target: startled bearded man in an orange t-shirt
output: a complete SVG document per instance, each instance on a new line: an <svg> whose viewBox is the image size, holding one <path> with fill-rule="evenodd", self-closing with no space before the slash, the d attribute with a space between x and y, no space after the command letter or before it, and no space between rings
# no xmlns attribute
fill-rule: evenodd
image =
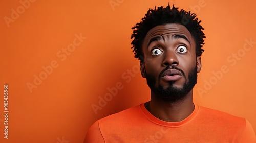
<svg viewBox="0 0 256 143"><path fill-rule="evenodd" d="M84 142L256 142L244 118L193 103L203 27L176 7L148 10L131 38L151 100L102 118Z"/></svg>

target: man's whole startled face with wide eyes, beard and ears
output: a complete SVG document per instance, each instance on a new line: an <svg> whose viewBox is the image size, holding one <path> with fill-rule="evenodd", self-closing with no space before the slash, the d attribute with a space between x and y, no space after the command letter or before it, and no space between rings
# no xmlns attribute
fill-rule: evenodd
<svg viewBox="0 0 256 143"><path fill-rule="evenodd" d="M172 102L184 99L201 70L190 32L175 23L156 26L148 31L142 49L141 74L156 97Z"/></svg>

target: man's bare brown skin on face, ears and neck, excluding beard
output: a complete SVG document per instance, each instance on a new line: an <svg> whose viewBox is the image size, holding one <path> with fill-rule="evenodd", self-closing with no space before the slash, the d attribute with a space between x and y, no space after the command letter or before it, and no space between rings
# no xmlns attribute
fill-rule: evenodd
<svg viewBox="0 0 256 143"><path fill-rule="evenodd" d="M197 73L201 70L201 57L196 56L195 40L182 25L170 23L152 28L144 38L142 49L145 60L140 63L141 75L143 78L146 78L147 74L154 75L156 87L161 85L164 89L168 86L182 88L187 82L185 79L189 80L188 75L191 70L195 67ZM161 71L170 65L183 70L185 77L177 72L161 76ZM174 84L170 85L168 81L174 81ZM186 94L184 100L177 102L159 99L158 95L151 91L151 101L145 103L145 107L160 120L182 121L195 109L193 90Z"/></svg>

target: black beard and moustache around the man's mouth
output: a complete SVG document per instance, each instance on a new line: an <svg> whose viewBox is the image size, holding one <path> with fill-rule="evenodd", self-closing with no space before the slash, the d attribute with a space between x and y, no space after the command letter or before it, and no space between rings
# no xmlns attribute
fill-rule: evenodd
<svg viewBox="0 0 256 143"><path fill-rule="evenodd" d="M156 87L156 78L153 75L146 73L147 85L148 87L150 87L151 91L156 95L156 98L160 100L172 103L183 101L186 98L187 94L194 88L194 86L197 83L197 67L190 70L187 79L185 73L181 69L177 68L176 66L172 66L172 68L168 66L159 74L159 80L161 78L162 73L164 73L164 71L167 69L176 69L181 72L182 76L185 77L185 83L183 87L176 87L174 85L176 81L169 81L169 86L166 89L164 89L163 86L161 86L160 84L158 84L158 86Z"/></svg>

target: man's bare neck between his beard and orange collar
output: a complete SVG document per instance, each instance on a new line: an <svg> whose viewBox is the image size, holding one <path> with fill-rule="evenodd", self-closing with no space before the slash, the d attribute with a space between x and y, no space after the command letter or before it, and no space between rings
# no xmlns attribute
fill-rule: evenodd
<svg viewBox="0 0 256 143"><path fill-rule="evenodd" d="M151 101L145 107L152 115L166 122L179 122L187 118L195 109L191 90L182 101L169 102L156 98L151 93Z"/></svg>

